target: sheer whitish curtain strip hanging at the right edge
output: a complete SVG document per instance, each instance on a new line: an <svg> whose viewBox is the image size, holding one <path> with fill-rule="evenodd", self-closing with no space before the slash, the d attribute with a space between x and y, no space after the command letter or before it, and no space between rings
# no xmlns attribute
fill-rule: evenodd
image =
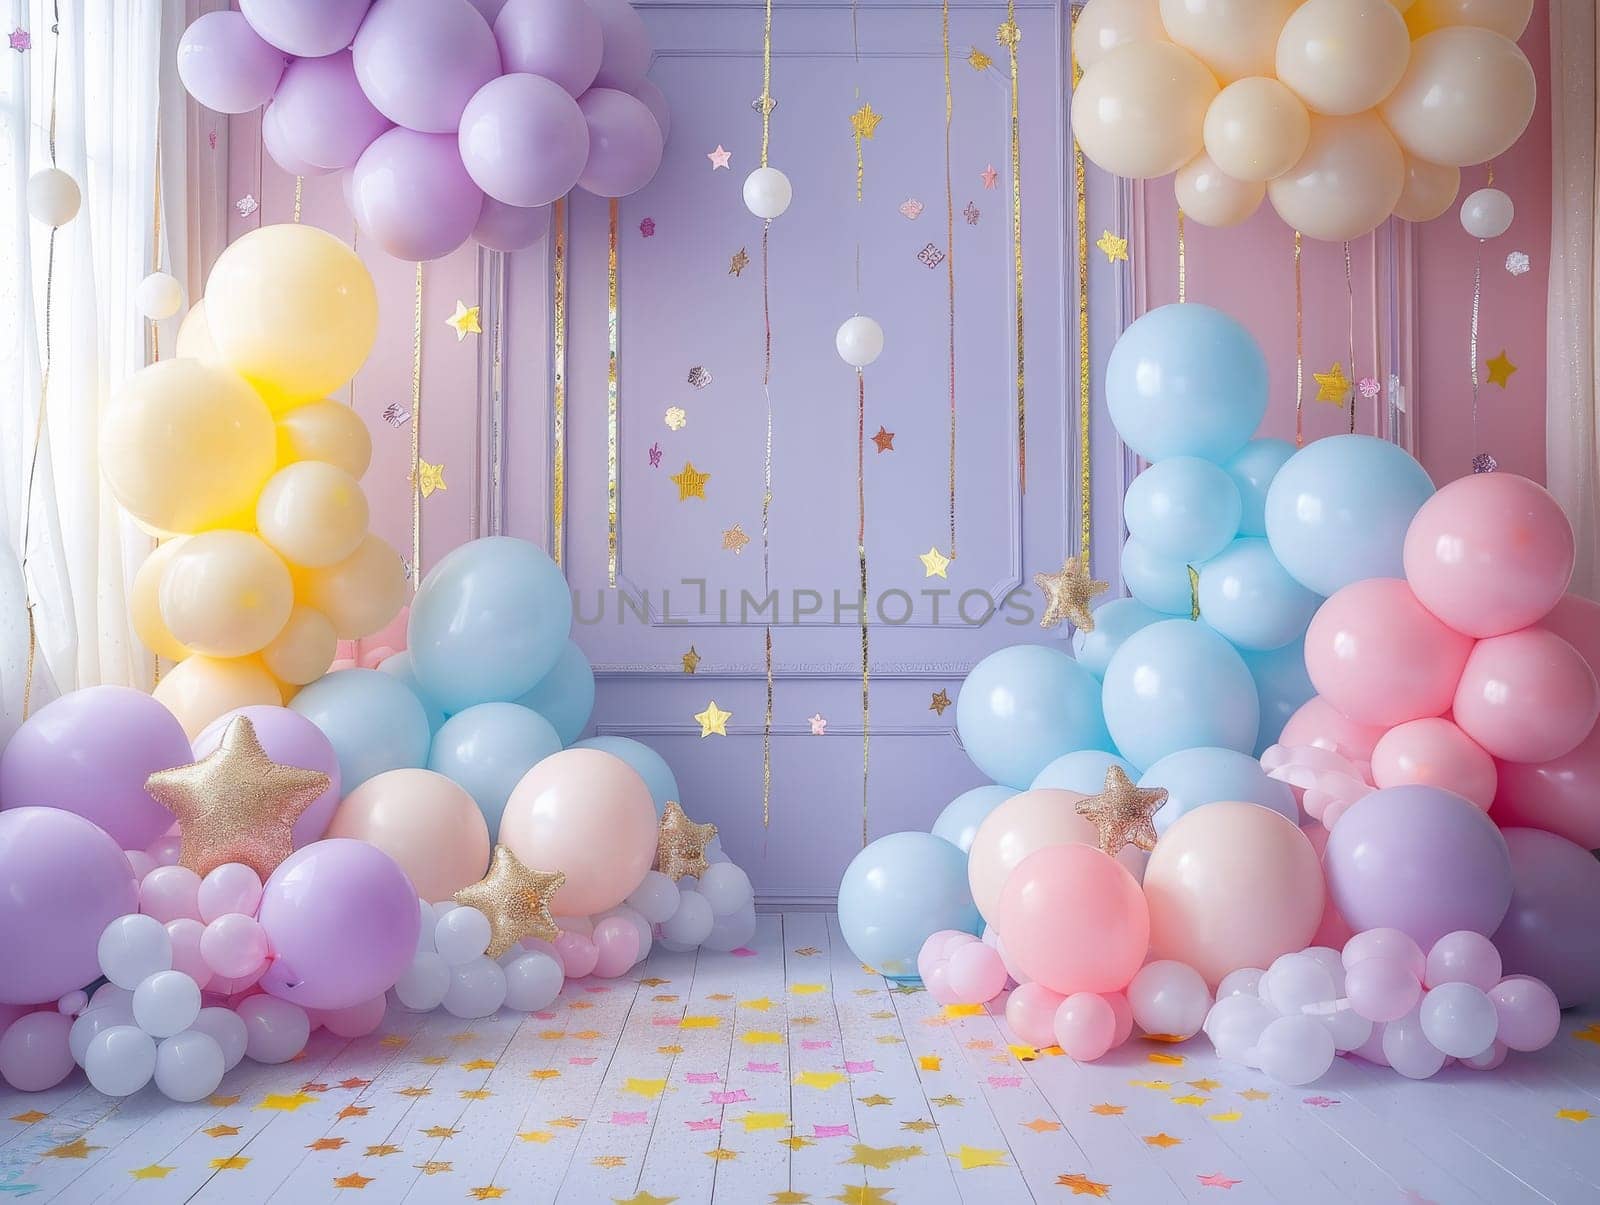
<svg viewBox="0 0 1600 1205"><path fill-rule="evenodd" d="M1546 477L1578 534L1573 592L1600 598L1600 192L1595 0L1550 3L1552 214Z"/></svg>

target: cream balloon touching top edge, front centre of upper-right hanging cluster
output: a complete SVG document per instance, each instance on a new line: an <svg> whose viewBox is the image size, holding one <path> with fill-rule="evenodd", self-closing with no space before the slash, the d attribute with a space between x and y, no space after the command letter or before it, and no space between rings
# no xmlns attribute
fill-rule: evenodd
<svg viewBox="0 0 1600 1205"><path fill-rule="evenodd" d="M1394 91L1411 54L1389 0L1306 0L1278 35L1277 75L1318 114L1347 117Z"/></svg>

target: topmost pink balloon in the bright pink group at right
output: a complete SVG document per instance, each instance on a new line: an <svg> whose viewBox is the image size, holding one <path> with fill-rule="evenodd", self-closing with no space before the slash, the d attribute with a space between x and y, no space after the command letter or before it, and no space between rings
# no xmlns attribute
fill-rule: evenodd
<svg viewBox="0 0 1600 1205"><path fill-rule="evenodd" d="M1461 477L1422 502L1405 536L1405 576L1422 605L1466 635L1538 623L1573 576L1573 526L1550 493L1509 472Z"/></svg>

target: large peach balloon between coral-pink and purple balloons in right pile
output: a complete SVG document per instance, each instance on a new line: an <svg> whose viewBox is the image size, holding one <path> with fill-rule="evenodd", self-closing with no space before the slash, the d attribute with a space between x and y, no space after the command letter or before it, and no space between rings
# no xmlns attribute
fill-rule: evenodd
<svg viewBox="0 0 1600 1205"><path fill-rule="evenodd" d="M1229 971L1306 949L1323 896L1317 851L1293 821L1254 803L1208 803L1150 855L1150 957L1189 963L1214 991Z"/></svg>

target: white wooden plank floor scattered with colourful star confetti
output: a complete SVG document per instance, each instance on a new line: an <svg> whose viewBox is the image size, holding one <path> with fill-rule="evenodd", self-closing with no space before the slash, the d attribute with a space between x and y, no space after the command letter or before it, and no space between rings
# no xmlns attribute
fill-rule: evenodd
<svg viewBox="0 0 1600 1205"><path fill-rule="evenodd" d="M0 1195L38 1202L1595 1202L1600 1024L1427 1083L1312 1088L1134 1040L1091 1066L893 987L822 914L656 951L533 1016L390 1015L226 1095L0 1095Z"/></svg>

